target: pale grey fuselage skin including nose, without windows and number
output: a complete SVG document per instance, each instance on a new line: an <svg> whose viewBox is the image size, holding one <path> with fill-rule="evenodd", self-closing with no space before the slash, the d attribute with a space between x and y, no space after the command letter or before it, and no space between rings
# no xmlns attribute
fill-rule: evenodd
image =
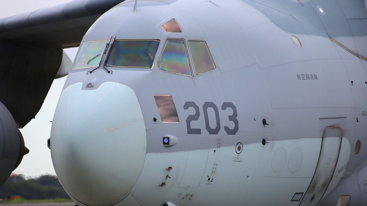
<svg viewBox="0 0 367 206"><path fill-rule="evenodd" d="M329 4L320 5L321 14L312 1L281 8L246 0L143 1L132 12L128 1L106 12L83 42L116 36L160 44L152 69L70 72L51 130L65 190L79 206L336 205L339 195L350 195L351 206L366 204L359 189L366 175L353 189L337 189L366 164L367 62L329 38L322 19L333 12ZM172 18L181 33L161 29ZM334 34L341 44L353 41ZM160 70L167 38L185 40L192 76ZM206 41L214 70L195 74L189 40ZM179 122L161 121L154 95L172 96ZM184 109L187 102L200 113L189 123L197 111ZM228 102L236 117L233 107L223 108ZM216 134L209 132L218 122ZM200 134L188 134L188 126ZM177 144L164 147L165 135Z"/></svg>

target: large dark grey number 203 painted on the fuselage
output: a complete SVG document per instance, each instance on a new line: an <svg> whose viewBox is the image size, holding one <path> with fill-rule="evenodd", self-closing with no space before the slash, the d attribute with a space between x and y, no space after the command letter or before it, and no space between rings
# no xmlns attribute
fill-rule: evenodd
<svg viewBox="0 0 367 206"><path fill-rule="evenodd" d="M197 121L200 117L199 107L195 104L195 102L185 102L183 105L184 110L188 110L190 107L195 109L195 114L188 115L186 119L187 133L189 135L200 135L201 129L191 128L191 121ZM215 113L215 121L217 122L215 128L211 128L209 125L209 117L208 117L208 108L211 107ZM232 102L224 102L222 104L222 110L226 110L227 108L231 108L233 111L232 115L228 116L228 120L232 121L235 124L233 129L230 129L228 126L224 127L224 130L228 135L236 135L238 132L238 120L237 120L237 108ZM213 102L205 102L203 105L204 119L205 119L205 128L210 135L217 135L219 130L221 130L221 121L219 119L219 111L218 107Z"/></svg>

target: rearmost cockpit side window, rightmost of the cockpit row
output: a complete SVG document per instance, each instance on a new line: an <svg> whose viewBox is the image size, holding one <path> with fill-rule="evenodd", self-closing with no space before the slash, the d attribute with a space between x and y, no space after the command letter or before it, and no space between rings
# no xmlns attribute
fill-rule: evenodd
<svg viewBox="0 0 367 206"><path fill-rule="evenodd" d="M215 69L213 59L205 41L188 41L195 74Z"/></svg>

